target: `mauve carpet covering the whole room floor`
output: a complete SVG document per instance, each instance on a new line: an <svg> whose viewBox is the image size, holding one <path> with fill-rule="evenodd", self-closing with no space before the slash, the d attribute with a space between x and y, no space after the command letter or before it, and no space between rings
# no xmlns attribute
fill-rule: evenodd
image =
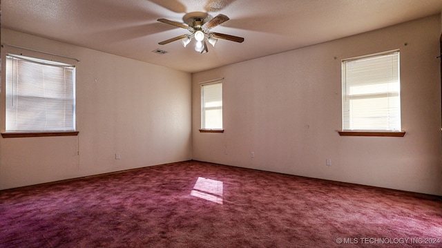
<svg viewBox="0 0 442 248"><path fill-rule="evenodd" d="M1 191L0 247L442 247L441 203L177 162Z"/></svg>

